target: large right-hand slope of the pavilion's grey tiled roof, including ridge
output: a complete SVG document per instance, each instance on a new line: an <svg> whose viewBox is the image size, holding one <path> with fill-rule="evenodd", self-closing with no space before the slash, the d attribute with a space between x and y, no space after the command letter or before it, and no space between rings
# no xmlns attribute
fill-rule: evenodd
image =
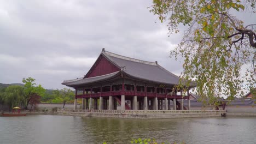
<svg viewBox="0 0 256 144"><path fill-rule="evenodd" d="M102 51L102 54L119 68L123 68L124 73L137 77L138 79L166 83L169 85L177 85L179 82L180 78L177 75L161 67L157 62L154 63L124 57L108 51Z"/></svg>

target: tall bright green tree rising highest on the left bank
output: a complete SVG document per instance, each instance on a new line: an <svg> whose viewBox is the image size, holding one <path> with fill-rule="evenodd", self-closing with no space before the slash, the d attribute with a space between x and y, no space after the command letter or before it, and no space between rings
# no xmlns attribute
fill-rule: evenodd
<svg viewBox="0 0 256 144"><path fill-rule="evenodd" d="M45 89L41 85L36 86L35 81L36 80L33 79L32 77L28 77L27 79L25 78L22 79L22 82L25 83L24 85L24 92L25 92L25 99L26 99L25 109L27 109L27 106L30 103L32 95L37 94L42 97L45 93Z"/></svg>

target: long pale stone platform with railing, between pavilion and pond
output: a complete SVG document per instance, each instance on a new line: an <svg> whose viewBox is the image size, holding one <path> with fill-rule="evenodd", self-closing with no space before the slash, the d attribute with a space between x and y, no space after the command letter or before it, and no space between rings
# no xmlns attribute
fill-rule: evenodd
<svg viewBox="0 0 256 144"><path fill-rule="evenodd" d="M221 117L225 110L58 110L59 115L164 119L189 117Z"/></svg>

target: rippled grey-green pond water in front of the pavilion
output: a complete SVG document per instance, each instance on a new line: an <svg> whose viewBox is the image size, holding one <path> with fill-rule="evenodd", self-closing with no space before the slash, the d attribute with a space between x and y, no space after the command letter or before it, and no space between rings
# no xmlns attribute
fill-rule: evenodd
<svg viewBox="0 0 256 144"><path fill-rule="evenodd" d="M118 119L0 117L0 143L130 143L132 138L185 143L256 143L256 117Z"/></svg>

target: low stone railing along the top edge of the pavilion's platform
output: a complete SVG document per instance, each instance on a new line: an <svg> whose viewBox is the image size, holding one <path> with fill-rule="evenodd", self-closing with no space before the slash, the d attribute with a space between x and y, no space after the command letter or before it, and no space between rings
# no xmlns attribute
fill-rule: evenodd
<svg viewBox="0 0 256 144"><path fill-rule="evenodd" d="M163 114L163 113L226 113L225 110L58 110L60 113L120 113L120 114Z"/></svg>

